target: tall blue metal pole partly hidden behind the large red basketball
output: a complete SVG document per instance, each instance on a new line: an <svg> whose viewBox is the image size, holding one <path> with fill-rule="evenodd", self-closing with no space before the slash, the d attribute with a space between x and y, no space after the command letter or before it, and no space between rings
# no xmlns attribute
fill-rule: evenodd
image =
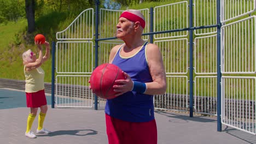
<svg viewBox="0 0 256 144"><path fill-rule="evenodd" d="M99 7L100 2L98 0L95 1L95 67L98 67L98 13L99 13ZM98 110L98 97L97 95L94 95L94 109Z"/></svg>

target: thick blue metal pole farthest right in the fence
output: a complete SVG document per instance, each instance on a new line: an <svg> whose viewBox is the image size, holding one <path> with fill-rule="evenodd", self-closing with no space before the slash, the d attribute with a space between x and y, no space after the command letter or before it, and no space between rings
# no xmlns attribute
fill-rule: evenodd
<svg viewBox="0 0 256 144"><path fill-rule="evenodd" d="M221 122L221 80L222 73L220 70L220 28L222 23L220 22L220 0L217 0L217 130L222 131L222 122Z"/></svg>

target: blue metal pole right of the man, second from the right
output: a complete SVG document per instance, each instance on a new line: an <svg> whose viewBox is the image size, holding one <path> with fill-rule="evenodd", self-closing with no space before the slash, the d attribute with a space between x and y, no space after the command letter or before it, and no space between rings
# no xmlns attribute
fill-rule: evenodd
<svg viewBox="0 0 256 144"><path fill-rule="evenodd" d="M193 27L193 0L189 1L189 27ZM193 29L189 30L189 117L193 117Z"/></svg>

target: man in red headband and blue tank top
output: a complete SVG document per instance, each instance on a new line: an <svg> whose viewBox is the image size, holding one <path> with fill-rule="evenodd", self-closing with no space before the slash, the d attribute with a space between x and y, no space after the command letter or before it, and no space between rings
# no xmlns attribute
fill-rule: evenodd
<svg viewBox="0 0 256 144"><path fill-rule="evenodd" d="M166 74L159 47L142 39L146 25L139 10L125 10L117 24L117 38L109 63L123 70L126 80L116 80L116 98L107 100L108 142L113 144L157 143L154 94L166 91Z"/></svg>

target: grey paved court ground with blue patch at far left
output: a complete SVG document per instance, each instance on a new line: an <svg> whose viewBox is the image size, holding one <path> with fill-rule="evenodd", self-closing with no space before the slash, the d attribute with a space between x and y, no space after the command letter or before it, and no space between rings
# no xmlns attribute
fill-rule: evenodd
<svg viewBox="0 0 256 144"><path fill-rule="evenodd" d="M47 97L48 103L50 97ZM50 104L50 103L49 103ZM107 142L104 111L88 109L51 109L44 127L53 131L28 139L24 134L28 115L24 92L0 89L0 143L30 144L104 144ZM38 116L37 116L38 118ZM32 131L36 131L37 118ZM217 131L216 118L189 117L185 113L155 111L159 144L183 143L256 143L256 136L222 126Z"/></svg>

